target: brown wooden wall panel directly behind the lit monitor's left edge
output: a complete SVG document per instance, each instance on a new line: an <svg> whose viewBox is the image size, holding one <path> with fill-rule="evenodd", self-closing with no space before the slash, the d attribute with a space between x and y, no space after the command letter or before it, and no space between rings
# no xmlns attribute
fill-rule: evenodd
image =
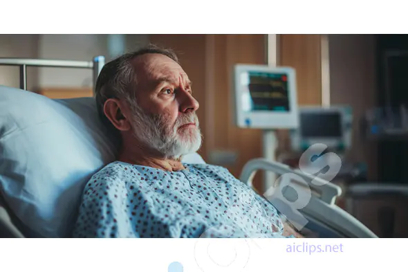
<svg viewBox="0 0 408 272"><path fill-rule="evenodd" d="M232 71L234 64L265 64L264 35L208 35L207 39L213 42L212 51L207 51L207 57L212 58L212 67L207 67L207 73L214 78L212 92L214 103L214 123L212 134L213 143L209 152L227 151L237 154L237 161L222 164L234 176L239 178L243 165L252 158L262 156L261 131L259 129L241 129L234 125L232 113ZM209 101L210 102L210 101ZM255 187L259 188L259 175L254 180Z"/></svg>

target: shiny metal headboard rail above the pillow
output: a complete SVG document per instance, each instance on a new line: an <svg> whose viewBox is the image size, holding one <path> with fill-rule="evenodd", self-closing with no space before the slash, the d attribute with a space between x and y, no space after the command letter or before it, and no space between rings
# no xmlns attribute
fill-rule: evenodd
<svg viewBox="0 0 408 272"><path fill-rule="evenodd" d="M0 57L0 66L19 66L20 67L20 89L27 90L27 67L59 67L59 68L82 68L93 69L93 86L95 87L98 75L105 64L104 56L94 57L91 62L76 60L40 60L40 59L21 59L14 57Z"/></svg>

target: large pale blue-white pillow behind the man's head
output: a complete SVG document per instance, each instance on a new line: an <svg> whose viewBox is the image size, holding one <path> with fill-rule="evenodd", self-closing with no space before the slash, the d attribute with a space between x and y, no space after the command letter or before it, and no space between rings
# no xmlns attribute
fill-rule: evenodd
<svg viewBox="0 0 408 272"><path fill-rule="evenodd" d="M51 100L0 85L0 193L28 237L68 237L84 185L118 143L93 98ZM185 163L205 163L197 153Z"/></svg>

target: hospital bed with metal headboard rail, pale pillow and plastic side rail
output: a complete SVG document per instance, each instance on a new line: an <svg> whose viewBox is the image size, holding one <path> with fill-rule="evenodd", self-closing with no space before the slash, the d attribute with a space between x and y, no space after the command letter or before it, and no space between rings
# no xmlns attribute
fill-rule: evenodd
<svg viewBox="0 0 408 272"><path fill-rule="evenodd" d="M104 57L90 62L0 58L0 65L20 68L20 89L0 85L0 237L69 237L84 184L114 161L118 143L100 122L93 98L52 100L26 91L26 68L93 69L95 82ZM205 163L196 153L183 162ZM313 197L301 213L317 237L376 237L335 206L337 185L316 186L313 177L262 158L245 165L241 181L252 187L258 170L297 174L310 185Z"/></svg>

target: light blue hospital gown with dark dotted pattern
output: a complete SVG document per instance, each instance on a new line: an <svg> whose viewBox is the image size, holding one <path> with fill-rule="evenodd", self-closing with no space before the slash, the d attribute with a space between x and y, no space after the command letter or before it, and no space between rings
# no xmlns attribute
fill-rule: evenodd
<svg viewBox="0 0 408 272"><path fill-rule="evenodd" d="M86 184L73 237L283 237L272 204L224 167L115 161Z"/></svg>

